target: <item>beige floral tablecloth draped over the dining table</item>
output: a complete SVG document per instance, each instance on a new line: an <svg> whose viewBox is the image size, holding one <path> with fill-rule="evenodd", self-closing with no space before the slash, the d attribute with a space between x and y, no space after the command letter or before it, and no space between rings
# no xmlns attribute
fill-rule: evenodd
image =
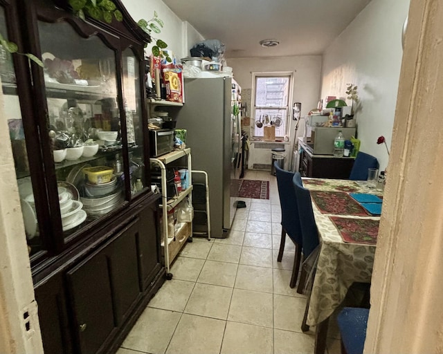
<svg viewBox="0 0 443 354"><path fill-rule="evenodd" d="M320 178L303 178L303 185L309 190L329 192L369 193L381 196L382 192L368 188L365 182L353 180L329 180ZM340 306L352 283L359 281L369 283L374 264L375 245L345 243L329 216L322 214L315 203L312 203L314 217L320 237L320 254L311 300L307 314L307 324L315 326L327 319ZM379 220L374 216L348 216L346 218L368 218Z"/></svg>

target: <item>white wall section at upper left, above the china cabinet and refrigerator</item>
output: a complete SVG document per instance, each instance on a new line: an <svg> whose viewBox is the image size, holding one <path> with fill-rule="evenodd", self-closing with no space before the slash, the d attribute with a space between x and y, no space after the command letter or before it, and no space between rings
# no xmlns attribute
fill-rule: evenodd
<svg viewBox="0 0 443 354"><path fill-rule="evenodd" d="M168 49L174 52L177 59L189 57L189 49L195 42L203 39L194 27L188 22L183 22L161 0L123 0L123 5L135 21L139 19L149 21L156 11L165 26L161 28L159 34L152 32L152 37L165 41ZM147 47L148 54L150 54L150 48L151 46Z"/></svg>

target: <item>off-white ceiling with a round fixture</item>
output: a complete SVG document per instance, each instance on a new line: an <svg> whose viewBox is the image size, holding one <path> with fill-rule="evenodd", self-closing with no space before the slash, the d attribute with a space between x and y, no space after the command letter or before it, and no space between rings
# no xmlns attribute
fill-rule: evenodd
<svg viewBox="0 0 443 354"><path fill-rule="evenodd" d="M163 0L206 39L226 45L225 58L319 55L370 0ZM262 39L278 46L263 48Z"/></svg>

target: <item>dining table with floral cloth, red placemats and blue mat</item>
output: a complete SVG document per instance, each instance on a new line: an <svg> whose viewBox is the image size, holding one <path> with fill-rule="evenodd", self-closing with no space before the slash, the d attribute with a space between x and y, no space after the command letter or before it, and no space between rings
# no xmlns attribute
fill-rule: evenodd
<svg viewBox="0 0 443 354"><path fill-rule="evenodd" d="M329 317L352 283L370 283L383 190L366 181L302 178L311 194L320 250L307 310L316 354L325 353Z"/></svg>

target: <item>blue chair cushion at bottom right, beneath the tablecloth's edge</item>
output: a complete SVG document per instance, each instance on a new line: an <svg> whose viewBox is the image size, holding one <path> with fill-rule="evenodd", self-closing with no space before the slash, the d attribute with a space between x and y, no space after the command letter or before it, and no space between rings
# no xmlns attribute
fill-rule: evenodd
<svg viewBox="0 0 443 354"><path fill-rule="evenodd" d="M337 316L341 342L347 354L362 354L365 346L368 308L345 307Z"/></svg>

